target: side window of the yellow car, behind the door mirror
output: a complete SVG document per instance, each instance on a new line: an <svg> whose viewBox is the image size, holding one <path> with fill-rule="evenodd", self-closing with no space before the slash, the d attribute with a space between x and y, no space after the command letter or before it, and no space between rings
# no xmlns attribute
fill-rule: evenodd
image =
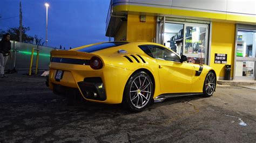
<svg viewBox="0 0 256 143"><path fill-rule="evenodd" d="M169 51L166 48L153 46L153 45L150 45L148 47L149 47L150 51L152 51L152 54L154 55L154 58L156 58L156 59L180 62L179 56L174 54L173 52Z"/></svg>

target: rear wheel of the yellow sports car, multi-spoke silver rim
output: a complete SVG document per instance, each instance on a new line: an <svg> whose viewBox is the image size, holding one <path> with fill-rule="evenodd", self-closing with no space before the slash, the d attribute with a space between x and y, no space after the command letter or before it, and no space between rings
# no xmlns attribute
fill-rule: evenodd
<svg viewBox="0 0 256 143"><path fill-rule="evenodd" d="M154 86L151 77L145 71L138 71L129 78L123 94L123 107L133 111L143 111L152 102Z"/></svg>

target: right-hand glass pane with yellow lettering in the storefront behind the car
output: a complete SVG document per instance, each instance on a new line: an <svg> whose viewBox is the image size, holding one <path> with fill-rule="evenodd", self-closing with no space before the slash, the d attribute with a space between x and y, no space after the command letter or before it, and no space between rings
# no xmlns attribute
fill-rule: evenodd
<svg viewBox="0 0 256 143"><path fill-rule="evenodd" d="M207 64L208 25L185 23L183 54L192 63Z"/></svg>

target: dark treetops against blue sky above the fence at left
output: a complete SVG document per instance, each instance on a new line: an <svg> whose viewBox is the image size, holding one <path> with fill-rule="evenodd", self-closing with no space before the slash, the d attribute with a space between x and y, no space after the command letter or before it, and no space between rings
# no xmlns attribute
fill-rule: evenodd
<svg viewBox="0 0 256 143"><path fill-rule="evenodd" d="M26 32L28 32L29 30L30 30L30 27L23 27L22 26L22 42L32 44L33 37L26 34ZM11 40L19 41L19 27L12 27L12 28L9 28L6 31L3 31L3 30L0 31L0 35L2 35L2 36L5 33L9 33L11 35Z"/></svg>

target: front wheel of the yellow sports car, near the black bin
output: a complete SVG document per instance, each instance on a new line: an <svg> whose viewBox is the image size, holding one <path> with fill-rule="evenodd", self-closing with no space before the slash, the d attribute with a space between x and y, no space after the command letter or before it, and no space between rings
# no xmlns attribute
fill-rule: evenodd
<svg viewBox="0 0 256 143"><path fill-rule="evenodd" d="M213 71L209 71L209 73L205 77L204 87L203 87L203 93L205 97L212 96L213 92L216 88L216 75L213 73Z"/></svg>

